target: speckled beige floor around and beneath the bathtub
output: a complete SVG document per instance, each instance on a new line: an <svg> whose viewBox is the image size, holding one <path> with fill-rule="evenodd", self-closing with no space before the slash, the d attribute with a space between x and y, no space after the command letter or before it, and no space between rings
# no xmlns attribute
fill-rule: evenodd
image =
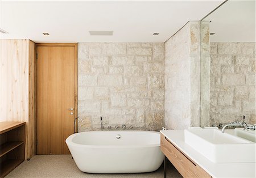
<svg viewBox="0 0 256 178"><path fill-rule="evenodd" d="M9 177L88 177L88 178L116 178L116 177L164 177L163 166L155 172L129 173L129 174L92 174L81 172L72 159L71 155L36 155L29 161L24 161L16 167L6 178ZM167 169L167 177L181 177L179 172L170 164Z"/></svg>

